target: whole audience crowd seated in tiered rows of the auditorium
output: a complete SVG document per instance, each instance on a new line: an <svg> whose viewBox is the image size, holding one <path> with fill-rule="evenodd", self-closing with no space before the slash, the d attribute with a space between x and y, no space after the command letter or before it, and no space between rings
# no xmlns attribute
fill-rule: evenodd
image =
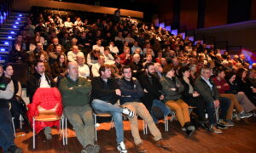
<svg viewBox="0 0 256 153"><path fill-rule="evenodd" d="M221 54L213 44L209 48L201 41L193 44L189 37L131 18L64 20L59 15L30 14L13 42L9 61L28 66L26 91L31 103L38 88L59 88L63 114L83 145L82 152L100 150L94 142L93 111L113 116L120 152L127 152L122 114L128 116L137 151L146 152L137 116L148 125L155 144L168 149L156 124L172 111L181 130L191 135L197 125L223 133L222 129L235 126L234 116L248 118L256 110L256 64L249 65L244 54ZM5 111L19 89L9 69L13 72L7 65L0 80L5 84L0 92ZM18 106L23 108L22 104ZM191 121L189 106L197 122ZM20 114L15 115L15 124ZM44 133L51 139L48 127ZM13 142L9 139L3 150L18 150Z"/></svg>

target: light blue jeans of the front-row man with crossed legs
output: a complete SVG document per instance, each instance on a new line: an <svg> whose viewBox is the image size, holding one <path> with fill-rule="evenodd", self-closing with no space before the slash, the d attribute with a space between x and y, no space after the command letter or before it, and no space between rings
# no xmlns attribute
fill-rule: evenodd
<svg viewBox="0 0 256 153"><path fill-rule="evenodd" d="M116 132L116 141L119 144L124 141L124 126L123 126L123 109L119 106L112 105L106 101L100 99L93 99L91 106L94 108L96 113L109 113L113 117L115 132Z"/></svg>

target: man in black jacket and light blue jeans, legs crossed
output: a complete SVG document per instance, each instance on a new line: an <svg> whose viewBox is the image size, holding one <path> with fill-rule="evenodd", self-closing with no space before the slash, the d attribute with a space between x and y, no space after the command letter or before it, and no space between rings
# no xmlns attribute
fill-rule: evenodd
<svg viewBox="0 0 256 153"><path fill-rule="evenodd" d="M134 117L134 112L127 108L121 108L116 103L119 100L121 91L117 82L111 77L109 65L102 65L99 69L100 77L93 77L92 102L91 106L97 113L110 113L116 130L117 149L121 153L127 152L124 143L124 129L122 113L129 117Z"/></svg>

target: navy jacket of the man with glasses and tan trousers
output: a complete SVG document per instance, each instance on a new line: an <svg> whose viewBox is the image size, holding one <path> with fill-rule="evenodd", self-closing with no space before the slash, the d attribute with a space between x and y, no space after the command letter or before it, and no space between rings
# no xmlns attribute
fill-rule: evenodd
<svg viewBox="0 0 256 153"><path fill-rule="evenodd" d="M124 78L121 78L119 79L118 84L122 92L120 105L123 105L126 102L141 102L141 97L143 97L143 88L137 80L131 79L129 82Z"/></svg>

